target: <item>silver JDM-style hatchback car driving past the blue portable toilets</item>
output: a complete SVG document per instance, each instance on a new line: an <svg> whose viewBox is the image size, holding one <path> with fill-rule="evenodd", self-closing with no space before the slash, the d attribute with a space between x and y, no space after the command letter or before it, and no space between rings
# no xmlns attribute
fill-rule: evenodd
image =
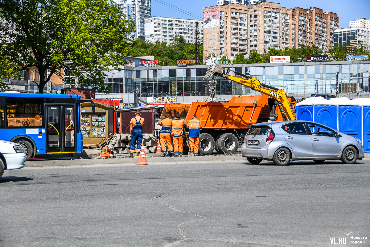
<svg viewBox="0 0 370 247"><path fill-rule="evenodd" d="M294 160L342 160L353 164L364 158L359 138L309 121L276 121L253 124L244 137L242 156L249 163L262 160L285 166Z"/></svg>

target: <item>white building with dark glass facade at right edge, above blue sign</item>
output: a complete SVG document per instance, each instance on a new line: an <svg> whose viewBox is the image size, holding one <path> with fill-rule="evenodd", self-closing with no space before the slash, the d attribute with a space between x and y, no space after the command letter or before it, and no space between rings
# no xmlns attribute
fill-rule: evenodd
<svg viewBox="0 0 370 247"><path fill-rule="evenodd" d="M367 27L347 27L334 31L334 45L343 46L364 46L370 45L370 28Z"/></svg>

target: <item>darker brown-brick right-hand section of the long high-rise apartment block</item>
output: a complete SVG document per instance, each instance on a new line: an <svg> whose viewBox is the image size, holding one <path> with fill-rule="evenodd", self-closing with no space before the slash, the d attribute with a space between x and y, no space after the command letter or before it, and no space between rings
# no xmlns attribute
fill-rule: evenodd
<svg viewBox="0 0 370 247"><path fill-rule="evenodd" d="M287 13L292 21L289 30L292 47L298 48L301 44L312 46L320 50L329 50L334 46L334 30L339 28L339 18L336 13L326 12L319 8L302 9L293 7Z"/></svg>

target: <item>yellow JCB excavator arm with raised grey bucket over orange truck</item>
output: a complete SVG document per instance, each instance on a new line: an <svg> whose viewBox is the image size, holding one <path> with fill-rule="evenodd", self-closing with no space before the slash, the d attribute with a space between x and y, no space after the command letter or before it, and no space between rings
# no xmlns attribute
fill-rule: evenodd
<svg viewBox="0 0 370 247"><path fill-rule="evenodd" d="M236 76L229 76L229 72L230 72L230 68L228 68L226 74L224 74L221 64L216 63L208 68L207 73L204 76L203 80L208 80L208 78L211 76L212 77L220 76L220 77L235 81L236 83L242 84L260 93L266 94L272 97L273 99L275 99L278 106L283 108L283 110L285 111L287 120L296 120L293 114L293 111L290 108L289 100L287 99L284 90L277 89L276 87L263 84L258 79L252 76L246 76L236 71L233 71L233 72L235 74L238 74L239 76L242 76L242 78L236 77Z"/></svg>

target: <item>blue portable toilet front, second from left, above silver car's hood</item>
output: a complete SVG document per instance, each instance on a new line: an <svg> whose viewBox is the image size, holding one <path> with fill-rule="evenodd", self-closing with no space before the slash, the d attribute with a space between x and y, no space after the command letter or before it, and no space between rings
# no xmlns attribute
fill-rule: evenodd
<svg viewBox="0 0 370 247"><path fill-rule="evenodd" d="M313 121L315 123L320 123L327 127L333 128L334 130L338 130L337 109L338 109L337 105L314 105Z"/></svg>

